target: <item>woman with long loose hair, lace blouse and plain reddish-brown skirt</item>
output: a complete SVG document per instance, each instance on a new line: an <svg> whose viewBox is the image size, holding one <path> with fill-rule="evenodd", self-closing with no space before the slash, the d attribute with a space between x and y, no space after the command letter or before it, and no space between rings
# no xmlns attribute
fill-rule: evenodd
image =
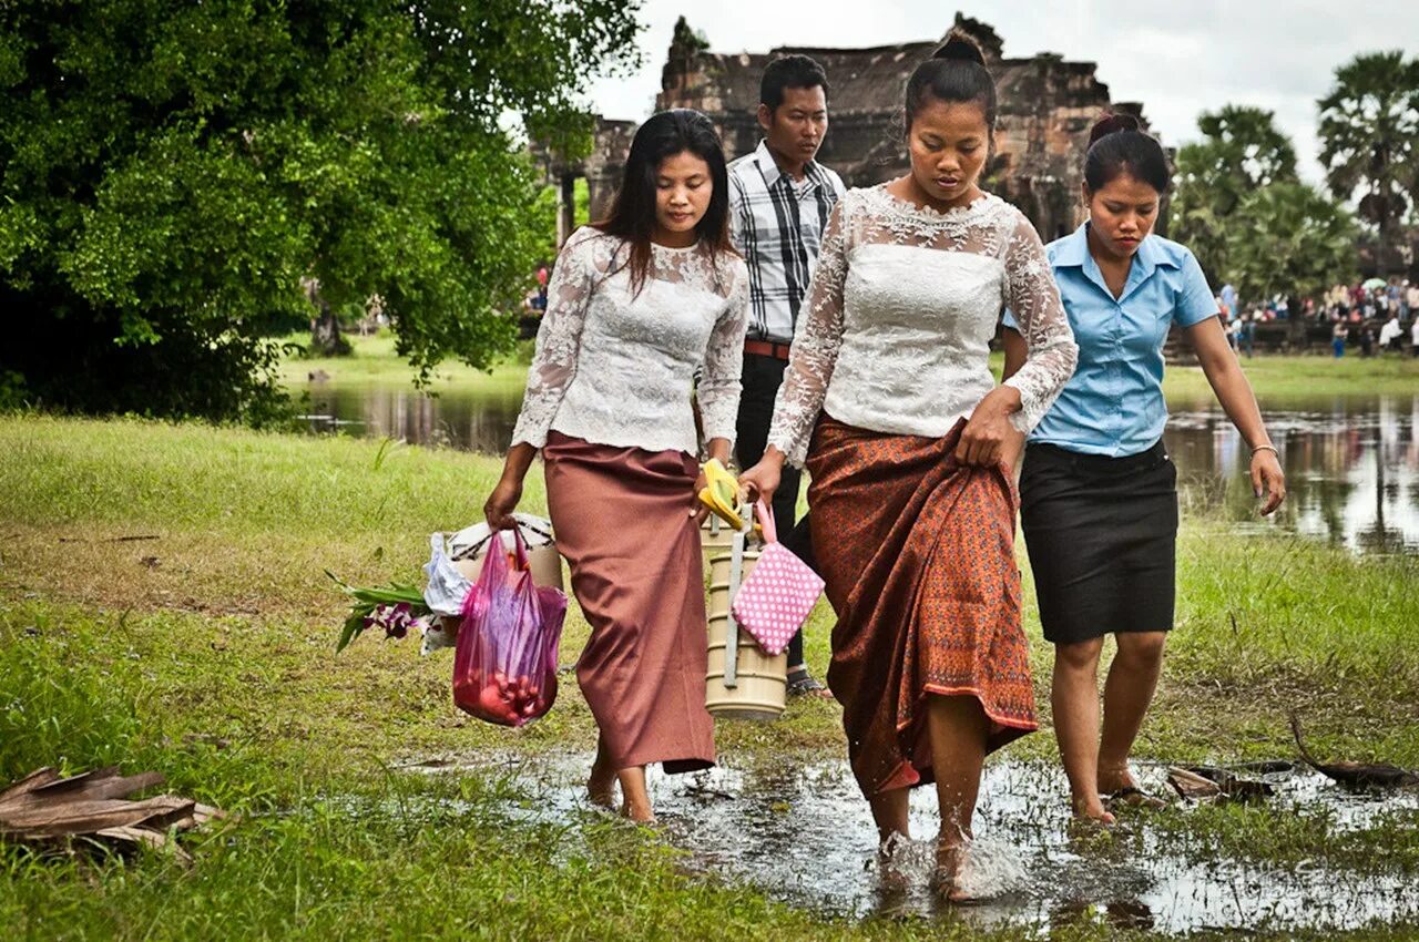
<svg viewBox="0 0 1419 942"><path fill-rule="evenodd" d="M622 813L640 821L653 820L647 763L691 772L715 758L691 392L700 370L707 450L728 461L748 316L728 194L708 118L677 109L640 126L610 218L562 248L484 508L490 525L514 525L541 450L556 546L592 626L576 665L600 733L587 790L610 804L619 780Z"/></svg>

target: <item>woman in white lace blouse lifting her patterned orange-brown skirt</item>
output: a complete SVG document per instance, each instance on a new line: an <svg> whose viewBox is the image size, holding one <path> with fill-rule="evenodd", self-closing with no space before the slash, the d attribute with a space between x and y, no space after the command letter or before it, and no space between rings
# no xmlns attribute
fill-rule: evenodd
<svg viewBox="0 0 1419 942"><path fill-rule="evenodd" d="M937 783L937 888L961 864L985 753L1032 729L1012 465L1074 369L1039 236L976 180L995 126L979 47L952 35L907 84L911 173L833 210L765 458L812 475L813 545L837 611L829 687L890 854L907 790ZM1029 342L996 386L1002 309Z"/></svg>

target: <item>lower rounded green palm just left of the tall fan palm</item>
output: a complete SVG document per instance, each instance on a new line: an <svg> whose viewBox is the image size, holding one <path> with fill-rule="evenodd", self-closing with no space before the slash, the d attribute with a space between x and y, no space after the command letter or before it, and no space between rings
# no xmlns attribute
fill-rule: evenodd
<svg viewBox="0 0 1419 942"><path fill-rule="evenodd" d="M1300 340L1300 299L1354 279L1357 236L1354 216L1337 200L1304 183L1271 183L1237 206L1227 228L1227 271L1243 297L1287 297L1293 339Z"/></svg>

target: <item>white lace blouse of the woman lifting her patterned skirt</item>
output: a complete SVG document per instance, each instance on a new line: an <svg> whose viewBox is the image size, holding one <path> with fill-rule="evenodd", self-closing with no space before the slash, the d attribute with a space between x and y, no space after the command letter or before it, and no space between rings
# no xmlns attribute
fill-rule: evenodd
<svg viewBox="0 0 1419 942"><path fill-rule="evenodd" d="M989 343L1006 306L1029 345L1006 380L1020 390L1010 423L1029 431L1078 356L1034 227L989 194L941 213L885 184L849 190L823 233L769 444L802 465L819 411L873 431L945 436L995 387Z"/></svg>

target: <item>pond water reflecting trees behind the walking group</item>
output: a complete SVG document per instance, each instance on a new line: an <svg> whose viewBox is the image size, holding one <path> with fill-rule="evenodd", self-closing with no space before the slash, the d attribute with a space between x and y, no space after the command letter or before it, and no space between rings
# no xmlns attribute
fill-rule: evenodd
<svg viewBox="0 0 1419 942"><path fill-rule="evenodd" d="M501 454L522 390L446 392L312 383L312 431ZM299 390L298 390L299 392ZM1250 455L1213 400L1171 401L1168 450L1185 512L1223 508L1242 532L1281 529L1355 550L1419 555L1419 393L1288 397L1267 426L1290 497L1276 519L1254 514Z"/></svg>

